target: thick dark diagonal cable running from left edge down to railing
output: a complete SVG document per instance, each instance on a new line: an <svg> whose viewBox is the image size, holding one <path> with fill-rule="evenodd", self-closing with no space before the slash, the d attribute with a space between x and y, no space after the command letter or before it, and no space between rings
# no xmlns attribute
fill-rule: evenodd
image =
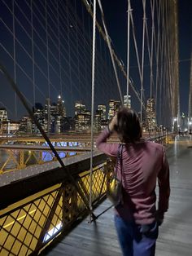
<svg viewBox="0 0 192 256"><path fill-rule="evenodd" d="M63 161L61 160L61 158L59 157L58 152L55 150L55 147L52 145L52 143L50 142L49 137L46 135L46 132L42 129L39 121L37 121L37 117L34 116L33 111L31 110L31 108L28 106L28 103L26 101L26 99L24 98L24 95L20 92L19 88L17 87L17 85L15 84L14 80L12 79L12 77L10 76L10 74L7 72L7 69L4 67L4 65L2 65L0 63L0 71L2 71L2 74L6 77L7 81L10 83L12 89L15 91L16 95L18 96L18 98L20 99L20 101L22 102L22 104L24 104L24 107L27 109L29 116L33 119L35 125L37 126L37 128L40 130L41 135L43 136L44 139L46 139L46 142L48 143L48 145L50 146L51 151L55 154L55 157L57 158L57 160L59 161L59 164L61 165L61 167L63 168L64 171L66 171L66 173L68 174L68 178L69 180L72 182L72 185L76 188L76 191L79 193L79 195L81 196L82 200L85 203L86 208L89 210L89 213L92 214L92 217L95 218L95 215L93 213L92 210L90 210L89 207L89 202L86 200L84 193L82 192L80 186L76 183L75 179L73 179L72 174L70 174L70 172L68 171L68 169L66 168L66 166L64 165Z"/></svg>

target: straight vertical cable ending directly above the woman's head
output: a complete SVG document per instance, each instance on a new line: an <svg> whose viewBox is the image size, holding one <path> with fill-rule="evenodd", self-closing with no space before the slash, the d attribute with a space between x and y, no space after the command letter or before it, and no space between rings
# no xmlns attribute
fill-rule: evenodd
<svg viewBox="0 0 192 256"><path fill-rule="evenodd" d="M126 107L129 106L129 46L130 46L130 12L131 12L131 5L130 0L128 0L128 50L127 50L127 101Z"/></svg>

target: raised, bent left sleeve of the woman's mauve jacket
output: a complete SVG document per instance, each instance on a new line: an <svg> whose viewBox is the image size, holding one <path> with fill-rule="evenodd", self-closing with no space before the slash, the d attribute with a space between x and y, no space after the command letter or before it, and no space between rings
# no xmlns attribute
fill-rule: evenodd
<svg viewBox="0 0 192 256"><path fill-rule="evenodd" d="M96 140L96 146L99 150L106 153L110 157L117 157L118 143L107 143L107 138L111 135L108 129L103 130L103 132L98 136Z"/></svg>

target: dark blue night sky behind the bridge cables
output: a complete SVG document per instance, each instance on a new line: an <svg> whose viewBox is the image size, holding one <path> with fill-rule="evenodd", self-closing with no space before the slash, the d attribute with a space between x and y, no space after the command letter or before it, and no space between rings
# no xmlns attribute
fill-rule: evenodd
<svg viewBox="0 0 192 256"><path fill-rule="evenodd" d="M7 6L5 7L5 3L7 4ZM24 14L21 13L19 5L20 5L20 1L15 0L16 2L16 7L18 10L16 10L18 13L18 17L20 16L20 22L21 24L26 25L26 29L30 30L30 27L27 26L27 23L24 21ZM17 3L18 2L18 3ZM43 2L43 1L42 1ZM52 4L51 1L50 5ZM78 5L81 6L81 1L73 1L76 2L77 5L77 10L78 10ZM178 7L178 15L179 15L179 68L180 68L180 94L181 94L181 112L187 113L188 112L188 99L189 99L189 85L190 85L190 51L191 51L191 46L192 46L192 38L191 38L191 34L192 34L192 1L191 0L179 0L179 7ZM107 1L107 0L103 0L103 11L105 14L105 19L107 22L107 29L112 41L112 46L116 51L116 54L118 55L119 59L123 61L125 69L126 69L126 56L127 56L127 0L121 0L121 1ZM10 1L3 1L0 0L0 7L5 7L6 9L8 7L11 8L11 0ZM23 3L26 7L23 7L24 13L25 15L28 15L28 17L30 17L30 12L28 11L28 1L24 0ZM146 6L147 4L150 4L150 1L146 1ZM140 51L140 57L141 57L141 50L142 50L142 1L132 1L132 7L133 7L133 18L134 18L134 23L135 23L135 28L136 28L136 33L137 33L137 43L138 43L138 48ZM38 11L37 7L37 11ZM40 8L42 11L43 9ZM7 9L8 10L8 9ZM40 10L40 11L41 11ZM9 29L11 29L11 11L8 11L9 15L5 15L5 11L1 11L1 16L0 19L3 20L3 22L6 22L8 24L8 27L10 27ZM146 15L147 12L149 11L149 7L146 8ZM78 11L77 11L78 12ZM81 7L79 7L79 12L81 12ZM98 10L99 13L99 10ZM98 15L99 16L99 15ZM30 18L29 18L30 19ZM88 24L86 18L84 20L85 26L90 27L91 24ZM12 52L12 42L11 42L11 37L10 34L5 32L5 28L3 27L4 24L1 23L0 24L0 29L1 29L1 37L0 41L2 42L3 46L7 46L8 51L10 52L11 55L13 55ZM75 30L75 24L68 24L68 27L71 29L68 33L72 34L73 31L77 31ZM19 27L18 27L19 28ZM90 29L90 28L88 28ZM5 33L4 33L5 32ZM26 44L26 49L27 51L32 55L31 53L31 42L28 41L28 38L26 36L24 36L24 33L22 32L22 30L19 28L19 30L17 31L19 37L21 38L20 40L23 40L24 43ZM30 33L30 31L29 31ZM43 37L43 33L44 31L42 30L42 32L40 33L41 36ZM50 32L52 33L52 32ZM82 32L84 33L84 32ZM89 36L91 37L91 33L89 33ZM80 37L80 36L78 36ZM54 36L53 36L54 38ZM77 38L80 42L80 40L82 40L81 38ZM39 40L39 39L38 39ZM45 40L46 40L46 35L45 35ZM39 40L39 47L41 48L41 51L43 52L43 54L46 55L46 48L43 45L41 46L40 44L40 40ZM74 44L74 53L71 52L71 58L73 58L73 63L74 65L79 61L76 58L77 55L77 50L76 50L76 42L72 42L72 44ZM91 42L89 42L91 43ZM103 43L103 42L99 42L99 43ZM16 52L16 58L18 58L18 61L20 62L21 66L23 64L23 68L27 68L28 70L28 77L33 77L33 73L32 73L32 61L28 60L28 56L24 56L26 55L26 53L24 53L24 51L21 49L21 47L18 45L17 47L17 52ZM54 45L52 46L54 49ZM77 46L78 48L79 46ZM81 48L81 47L80 47ZM19 49L19 50L18 50ZM80 49L81 51L82 49ZM23 54L21 54L21 52L23 52ZM68 53L68 50L66 51ZM38 64L40 66L42 66L42 71L43 73L45 73L47 75L47 70L46 70L46 62L45 60L41 57L40 54L38 54L38 51L34 52L35 54L35 58L39 58L39 62ZM90 52L87 53L88 55L90 55ZM58 52L55 50L55 56L58 55ZM74 56L73 56L74 55ZM81 54L82 55L82 54ZM85 55L85 53L84 53ZM98 53L99 55L99 53ZM100 51L100 55L103 55L103 52L101 54ZM98 59L100 58L100 55L98 57ZM38 57L39 56L39 57ZM50 55L52 56L52 55ZM1 61L6 64L8 71L11 73L11 76L13 76L13 66L11 65L11 59L9 58L9 56L7 55L7 53L4 52L3 48L1 47L0 49L0 57L1 57ZM41 60L40 60L41 58ZM58 66L58 63L55 62L55 59L53 58L53 56L51 57L53 63L55 63L55 67ZM89 58L89 57L88 57ZM63 60L64 61L64 60ZM90 60L89 60L90 61ZM102 61L102 60L97 60L97 61ZM146 79L146 85L144 85L144 89L145 89L145 93L146 93L146 98L149 98L149 87L147 87L147 85L149 85L149 82L147 79L149 78L145 78L145 74L146 77L149 76L149 65L147 62L148 60L146 60L146 66L144 68L144 80ZM45 64L44 64L45 62ZM109 64L109 62L107 63ZM97 64L98 65L98 64ZM64 66L64 64L63 64ZM101 66L102 67L102 66ZM101 68L100 67L100 68ZM70 73L70 77L72 77L74 79L73 83L71 82L71 86L67 86L65 88L64 91L64 100L66 102L67 105L67 111L68 113L72 116L73 113L73 105L74 102L77 99L84 99L85 100L85 104L88 104L88 108L90 109L90 97L91 97L91 88L89 86L89 89L85 90L85 86L86 82L83 82L83 79L87 79L87 81L89 81L90 84L90 79L91 79L91 67L85 67L85 64L78 64L78 69L80 69L78 72L80 73L85 73L88 72L88 77L86 76L81 76L81 78L79 78L79 80L81 80L81 82L78 82L75 78L75 73L72 73L72 70L70 70L70 68L65 68L66 73L63 74L62 79L64 79L65 81L69 81L70 79L68 78L68 74ZM99 68L99 65L98 65ZM108 68L108 66L107 66ZM54 68L53 68L54 69ZM52 70L52 69L51 69ZM112 69L111 69L112 70ZM36 69L35 69L36 72ZM24 81L23 83L20 83L20 90L24 93L24 95L26 96L26 98L28 99L28 103L33 105L33 86L32 86L32 82L30 82L30 79L26 79L26 77L24 77L24 74L22 72L20 72L20 70L18 69L18 80L19 81ZM100 87L98 86L98 91L96 89L96 103L97 104L107 104L107 100L111 99L111 97L113 95L117 95L117 89L112 90L111 89L111 85L109 84L107 79L111 79L110 76L108 78L104 77L104 73L105 70L103 69L103 77L100 77L101 81L100 83ZM100 74L101 76L101 74ZM137 90L140 90L140 81L138 78L138 72L137 72L137 61L136 61L136 56L135 56L135 51L133 49L133 46L130 46L130 76L133 77L133 81L135 82L135 86L137 87ZM22 80L24 79L24 80ZM75 80L76 79L76 80ZM102 84L105 82L104 80L106 79L106 88L103 91L103 95L107 95L106 99L104 98L103 95L100 94L101 90L101 86ZM37 81L38 80L38 81ZM41 75L41 73L37 70L36 73L36 77L35 77L35 82L37 82L37 84L41 85L41 90L38 90L36 92L36 97L37 97L37 102L41 102L41 104L45 104L45 99L47 97L47 86L44 88L42 85L46 84L45 82L45 77L43 77ZM3 88L1 87L0 89L0 107L6 107L8 110L8 115L11 119L15 119L15 95L14 93L11 91L11 89L9 88L9 86L7 85L7 83L5 82L4 78L2 77L2 74L0 75L0 82L1 84L3 84ZM59 95L59 92L61 91L61 89L59 88L59 78L58 76L55 76L54 70L51 71L50 73L50 82L52 82L53 84L55 83L56 86L52 86L51 87L51 97L53 97L53 101L56 101L56 97L57 95ZM79 85L78 85L79 83ZM84 84L85 83L85 84ZM122 82L123 84L125 84L124 82ZM24 84L24 85L23 85ZM68 82L68 85L70 84L70 81ZM83 85L84 84L84 85ZM100 89L99 89L100 88ZM108 92L107 92L108 91ZM125 92L124 87L123 87L123 93ZM98 101L98 98L101 97L100 102ZM115 98L115 97L114 97ZM133 106L135 108L137 108L136 110L139 109L138 104L135 105L134 104L134 98L133 99ZM88 103L89 101L89 103ZM17 108L18 108L18 117L21 117L24 113L26 113L26 111L24 110L24 108L21 106L20 102L17 101ZM17 117L17 118L18 118Z"/></svg>

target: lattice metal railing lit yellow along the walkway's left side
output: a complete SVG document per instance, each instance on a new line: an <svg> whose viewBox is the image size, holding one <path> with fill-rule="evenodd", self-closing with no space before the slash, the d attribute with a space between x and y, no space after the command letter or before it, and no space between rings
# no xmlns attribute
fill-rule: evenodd
<svg viewBox="0 0 192 256"><path fill-rule="evenodd" d="M165 143L170 136L172 134L153 140ZM66 161L66 168L89 201L89 152L69 157ZM94 209L106 196L113 163L103 153L95 152L93 165ZM63 169L51 168L0 188L1 255L37 255L56 236L68 232L74 223L89 213Z"/></svg>

